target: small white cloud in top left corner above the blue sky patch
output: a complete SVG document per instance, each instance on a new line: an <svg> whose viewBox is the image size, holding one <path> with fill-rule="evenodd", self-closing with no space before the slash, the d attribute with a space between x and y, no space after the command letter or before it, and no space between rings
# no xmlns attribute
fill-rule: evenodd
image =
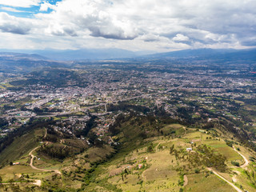
<svg viewBox="0 0 256 192"><path fill-rule="evenodd" d="M0 5L30 7L38 6L42 0L0 0Z"/></svg>

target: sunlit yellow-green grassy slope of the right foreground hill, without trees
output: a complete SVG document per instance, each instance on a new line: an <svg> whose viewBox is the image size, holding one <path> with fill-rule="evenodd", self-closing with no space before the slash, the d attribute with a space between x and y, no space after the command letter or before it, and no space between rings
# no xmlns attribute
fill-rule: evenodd
<svg viewBox="0 0 256 192"><path fill-rule="evenodd" d="M171 129L180 129L181 126L167 126ZM166 127L165 127L166 128ZM129 132L129 126L126 126L126 132ZM214 174L210 174L205 167L196 165L188 168L185 162L177 161L174 154L170 155L170 146L174 144L176 149L186 149L190 147L190 141L194 143L206 144L214 150L220 147L219 153L228 150L225 156L230 159L240 161L239 156L232 148L226 146L222 140L216 138L206 139L209 134L195 130L187 130L188 134L182 138L155 137L147 139L148 143L138 145L136 149L128 147L122 151L122 155L117 155L110 162L98 166L94 174L98 174L85 191L178 191L183 188L185 191L234 191L231 186ZM183 133L182 133L183 134ZM136 136L132 136L136 138ZM122 138L122 137L121 137ZM129 138L127 138L129 140ZM153 143L154 152L147 152L147 147ZM217 151L217 150L216 150ZM138 169L139 164L144 164L146 168ZM125 174L125 169L129 166L129 174ZM181 167L186 166L189 184L183 187L179 182ZM198 168L198 174L194 170ZM123 176L122 176L123 174ZM206 174L209 174L206 176ZM123 178L123 180L122 180Z"/></svg>

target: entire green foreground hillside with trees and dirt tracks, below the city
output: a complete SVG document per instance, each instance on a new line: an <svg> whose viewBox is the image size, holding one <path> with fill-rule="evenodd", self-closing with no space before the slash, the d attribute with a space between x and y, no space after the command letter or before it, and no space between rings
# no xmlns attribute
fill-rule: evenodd
<svg viewBox="0 0 256 192"><path fill-rule="evenodd" d="M200 130L164 118L143 116L120 118L120 123L110 130L116 146L100 142L98 146L88 146L45 128L30 132L31 140L15 140L2 152L5 159L20 164L3 167L0 176L3 182L10 179L26 182L21 175L27 175L42 184L18 187L27 190L36 186L35 191L236 191L236 186L253 191L256 188L255 152L236 141L232 142L234 149L228 146L229 135L220 130ZM38 144L32 135L38 138ZM7 152L20 147L26 153L14 156ZM62 158L50 151L68 152Z"/></svg>

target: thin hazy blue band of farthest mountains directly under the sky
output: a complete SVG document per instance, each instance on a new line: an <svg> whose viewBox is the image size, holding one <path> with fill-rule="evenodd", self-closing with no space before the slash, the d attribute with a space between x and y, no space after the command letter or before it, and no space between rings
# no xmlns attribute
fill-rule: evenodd
<svg viewBox="0 0 256 192"><path fill-rule="evenodd" d="M1 50L0 50L1 51ZM8 51L8 52L7 52ZM16 52L16 53L10 53ZM17 54L22 53L22 54ZM120 58L190 58L190 59L256 59L256 49L197 49L178 50L166 53L152 54L149 51L133 52L122 49L84 49L84 50L5 50L0 57L28 58L34 60L102 60Z"/></svg>

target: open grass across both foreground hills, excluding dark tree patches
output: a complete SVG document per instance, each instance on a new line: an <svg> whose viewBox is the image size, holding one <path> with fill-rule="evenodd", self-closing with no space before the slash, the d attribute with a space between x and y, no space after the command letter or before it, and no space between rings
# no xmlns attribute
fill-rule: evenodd
<svg viewBox="0 0 256 192"><path fill-rule="evenodd" d="M142 127L150 130L148 122L142 122L139 126L136 125L136 122L125 122L122 124L121 132L114 137L118 139L118 142L123 143L122 148L114 158L100 164L96 168L90 175L90 185L86 186L84 191L178 191L180 188L183 188L185 191L233 191L233 188L226 182L223 182L214 174L209 174L204 166L188 166L186 162L179 161L175 158L174 154L170 154L170 146L174 145L177 150L185 150L187 147L191 147L190 142L193 141L197 146L206 144L206 146L210 146L214 151L225 155L227 165L230 164L231 160L242 162L242 157L230 146L226 146L226 143L222 139L218 140L218 138L211 136L210 133L206 134L195 129L186 129L186 127L178 124L163 127L163 132L171 131L173 133L172 135L157 136L159 132L152 130L151 136L155 136L143 139L142 132L144 130ZM36 130L35 132L24 135L22 138L16 139L6 151L3 151L3 154L10 159L14 159L17 152L15 155L11 152L18 147L16 151L22 149L24 154L28 154L30 150L38 146L38 142L34 141L35 136L40 136L44 133L44 130ZM212 138L209 138L210 136ZM207 137L208 139L206 139ZM82 144L80 141L79 143L75 142L77 141L69 141L67 139L62 145L70 144L74 146L74 144ZM148 151L151 143L153 152ZM254 154L248 153L248 150L245 148L240 148L242 154L245 154L246 157L254 156ZM105 158L105 155L110 155L113 152L114 150L109 146L90 148L74 158L66 158L62 163L42 156L41 160L34 162L34 165L40 167L54 166L58 169L65 170L67 174L62 177L61 186L78 189L81 187L83 178L85 177L83 169L89 169L90 162L102 160L102 158ZM21 156L22 154L19 154L16 159ZM2 158L2 154L0 158ZM23 161L27 165L28 159L20 159L19 161ZM139 164L143 165L141 169L138 169ZM128 173L126 173L125 169L128 166ZM78 172L78 167L83 171ZM189 180L187 186L182 186L181 168L185 170L184 174L187 174ZM195 169L199 170L198 174L194 173ZM0 170L0 173L2 173L5 179L10 179L13 177L10 171L15 174L33 172L33 170L30 170L30 166L6 166L6 168ZM234 176L234 173L232 173L231 171L230 174L225 174L225 178L232 181L232 177ZM237 185L242 184L246 190L254 189L242 169L240 173L237 177ZM209 175L206 176L207 174ZM50 173L35 173L33 177L39 179L47 178L50 182L54 182Z"/></svg>

